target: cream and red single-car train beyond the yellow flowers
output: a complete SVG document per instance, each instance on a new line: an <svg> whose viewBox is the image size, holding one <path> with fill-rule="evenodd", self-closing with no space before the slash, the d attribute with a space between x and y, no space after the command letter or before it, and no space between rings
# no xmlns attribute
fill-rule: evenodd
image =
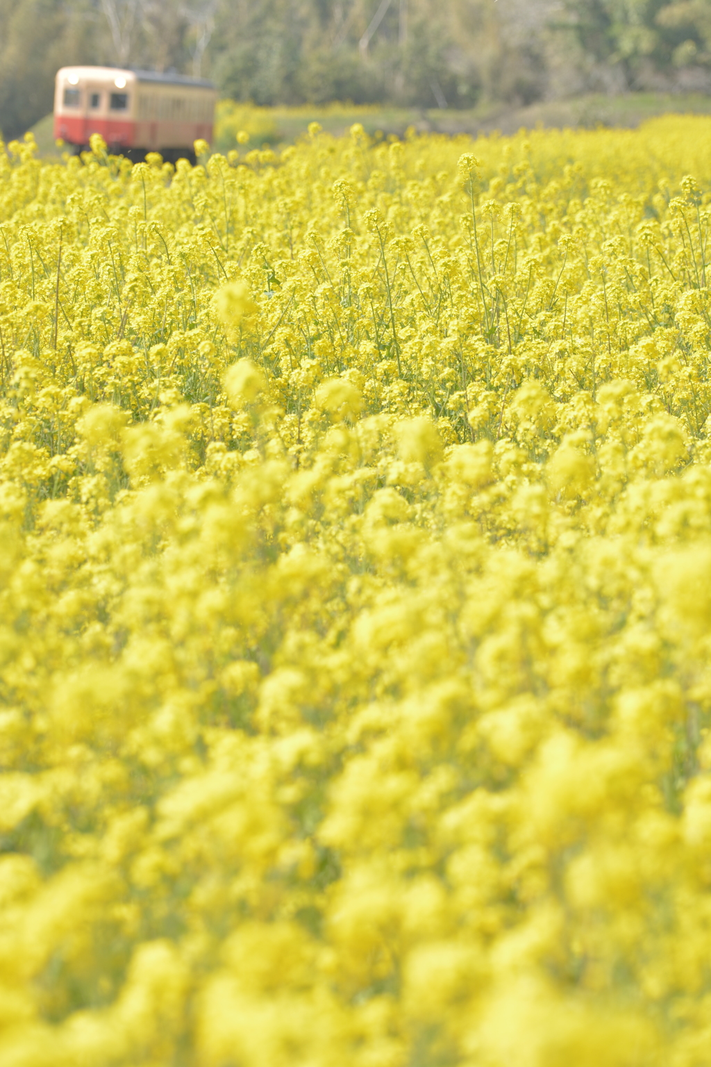
<svg viewBox="0 0 711 1067"><path fill-rule="evenodd" d="M180 74L67 66L56 73L54 138L75 152L100 133L109 150L130 159L159 152L194 162L193 143L212 140L217 94L210 81Z"/></svg>

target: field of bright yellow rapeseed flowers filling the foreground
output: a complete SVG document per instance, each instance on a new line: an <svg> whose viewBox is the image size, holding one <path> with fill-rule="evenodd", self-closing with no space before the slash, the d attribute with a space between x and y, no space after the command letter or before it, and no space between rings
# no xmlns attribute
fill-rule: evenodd
<svg viewBox="0 0 711 1067"><path fill-rule="evenodd" d="M0 154L0 1063L708 1067L711 120L205 158Z"/></svg>

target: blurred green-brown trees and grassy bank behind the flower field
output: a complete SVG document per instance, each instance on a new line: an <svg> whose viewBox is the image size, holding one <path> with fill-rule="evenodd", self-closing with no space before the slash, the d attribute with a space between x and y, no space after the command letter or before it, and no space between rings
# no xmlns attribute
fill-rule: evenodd
<svg viewBox="0 0 711 1067"><path fill-rule="evenodd" d="M377 105L394 126L536 108L614 122L627 112L604 100L620 94L646 94L631 114L683 94L704 106L711 0L0 0L5 138L51 110L71 63L200 75L257 108Z"/></svg>

